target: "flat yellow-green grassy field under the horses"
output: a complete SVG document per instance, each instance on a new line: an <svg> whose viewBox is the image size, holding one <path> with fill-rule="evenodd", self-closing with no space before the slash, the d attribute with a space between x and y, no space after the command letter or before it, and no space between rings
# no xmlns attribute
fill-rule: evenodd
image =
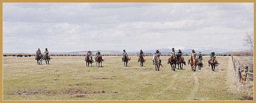
<svg viewBox="0 0 256 103"><path fill-rule="evenodd" d="M52 57L50 65L37 65L34 57L4 57L4 100L247 100L235 86L231 57L217 57L218 71L204 59L202 70L190 66L155 71L152 57L140 67L131 56L128 67L121 56L103 56L102 66L86 67L82 56ZM184 57L188 61L188 57ZM206 58L206 57L205 57ZM207 56L208 58L208 56Z"/></svg>

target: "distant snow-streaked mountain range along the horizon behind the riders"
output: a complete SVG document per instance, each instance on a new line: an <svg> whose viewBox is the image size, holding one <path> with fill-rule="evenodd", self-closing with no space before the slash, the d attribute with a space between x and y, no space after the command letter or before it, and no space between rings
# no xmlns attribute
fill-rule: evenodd
<svg viewBox="0 0 256 103"><path fill-rule="evenodd" d="M215 53L217 54L227 54L230 52L239 52L239 51L247 51L245 49L239 49L239 50L231 50L231 49L218 49L218 48L208 48L208 47L192 47L192 46L177 46L177 47L168 47L168 48L162 48L159 49L161 54L166 55L169 54L172 48L175 49L176 52L180 49L184 54L189 54L192 49L196 51L196 53L201 53L203 54L209 54L211 53L212 50L214 50ZM155 53L156 50L143 50L144 53ZM88 51L76 51L76 52L50 52L52 54L85 54ZM95 54L97 51L91 51L93 54ZM128 54L136 54L138 51L127 51ZM122 51L118 50L101 50L101 54L113 54L113 55L121 55Z"/></svg>

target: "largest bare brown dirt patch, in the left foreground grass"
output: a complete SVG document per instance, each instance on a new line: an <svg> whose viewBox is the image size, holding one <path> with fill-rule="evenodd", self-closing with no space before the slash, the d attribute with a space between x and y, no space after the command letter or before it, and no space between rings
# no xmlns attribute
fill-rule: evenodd
<svg viewBox="0 0 256 103"><path fill-rule="evenodd" d="M9 93L9 95L31 95L31 94L100 94L106 93L107 91L92 91L92 90L84 90L84 89L63 89L63 90L41 90L41 89L25 89L25 90L16 90ZM117 93L109 91L108 93Z"/></svg>

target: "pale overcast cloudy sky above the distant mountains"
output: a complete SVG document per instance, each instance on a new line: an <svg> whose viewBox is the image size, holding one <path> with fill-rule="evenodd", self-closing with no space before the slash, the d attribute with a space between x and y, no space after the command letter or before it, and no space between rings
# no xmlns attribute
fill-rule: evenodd
<svg viewBox="0 0 256 103"><path fill-rule="evenodd" d="M253 3L4 3L3 53L242 49Z"/></svg>

